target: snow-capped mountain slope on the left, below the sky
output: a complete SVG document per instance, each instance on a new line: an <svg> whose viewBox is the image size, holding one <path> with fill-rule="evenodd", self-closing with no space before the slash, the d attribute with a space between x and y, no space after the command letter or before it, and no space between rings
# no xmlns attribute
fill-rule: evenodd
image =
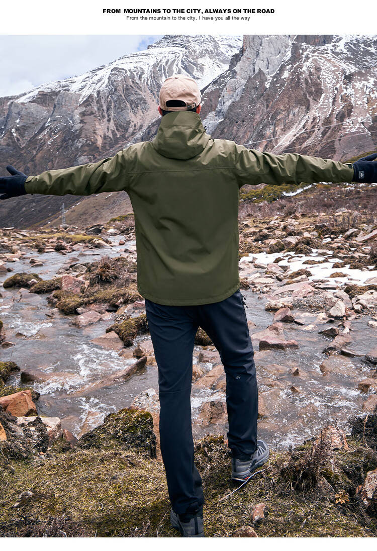
<svg viewBox="0 0 377 551"><path fill-rule="evenodd" d="M11 163L28 175L40 174L114 154L159 118L158 93L165 78L189 74L203 88L228 69L241 45L241 37L164 36L146 51L120 57L78 77L0 98L1 172ZM124 194L123 202L125 198ZM113 200L112 214L130 211L129 201L119 212L119 201ZM66 197L65 207L77 201L77 197ZM103 198L88 207L92 222L103 220L102 203ZM59 213L61 205L61 198L26 197L20 210L19 201L10 200L2 204L0 225L45 223ZM80 224L80 217L69 218L67 214L67 222Z"/></svg>

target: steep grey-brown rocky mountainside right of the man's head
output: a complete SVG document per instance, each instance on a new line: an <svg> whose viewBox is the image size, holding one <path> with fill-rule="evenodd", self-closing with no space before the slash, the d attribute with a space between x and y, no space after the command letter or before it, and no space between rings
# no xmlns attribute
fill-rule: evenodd
<svg viewBox="0 0 377 551"><path fill-rule="evenodd" d="M272 153L347 160L377 148L377 37L244 37L204 93L213 137Z"/></svg>

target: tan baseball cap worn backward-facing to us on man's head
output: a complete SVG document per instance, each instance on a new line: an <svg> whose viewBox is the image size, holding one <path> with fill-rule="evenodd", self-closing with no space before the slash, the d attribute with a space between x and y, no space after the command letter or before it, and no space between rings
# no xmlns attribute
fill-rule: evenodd
<svg viewBox="0 0 377 551"><path fill-rule="evenodd" d="M160 90L160 107L164 111L187 111L197 107L201 102L202 96L195 80L186 77L184 74L176 74L165 80ZM166 101L180 100L184 101L186 107L170 107Z"/></svg>

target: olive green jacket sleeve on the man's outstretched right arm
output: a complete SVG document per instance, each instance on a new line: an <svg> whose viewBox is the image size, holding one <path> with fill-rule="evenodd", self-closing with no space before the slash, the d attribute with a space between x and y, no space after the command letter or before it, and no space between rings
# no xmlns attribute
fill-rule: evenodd
<svg viewBox="0 0 377 551"><path fill-rule="evenodd" d="M273 155L235 146L235 176L239 187L245 183L351 182L351 164L297 153Z"/></svg>

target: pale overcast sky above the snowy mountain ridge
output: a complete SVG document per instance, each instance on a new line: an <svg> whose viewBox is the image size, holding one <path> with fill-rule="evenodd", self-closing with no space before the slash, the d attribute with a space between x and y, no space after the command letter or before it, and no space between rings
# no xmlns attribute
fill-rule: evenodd
<svg viewBox="0 0 377 551"><path fill-rule="evenodd" d="M72 77L146 50L160 35L2 35L0 97Z"/></svg>

